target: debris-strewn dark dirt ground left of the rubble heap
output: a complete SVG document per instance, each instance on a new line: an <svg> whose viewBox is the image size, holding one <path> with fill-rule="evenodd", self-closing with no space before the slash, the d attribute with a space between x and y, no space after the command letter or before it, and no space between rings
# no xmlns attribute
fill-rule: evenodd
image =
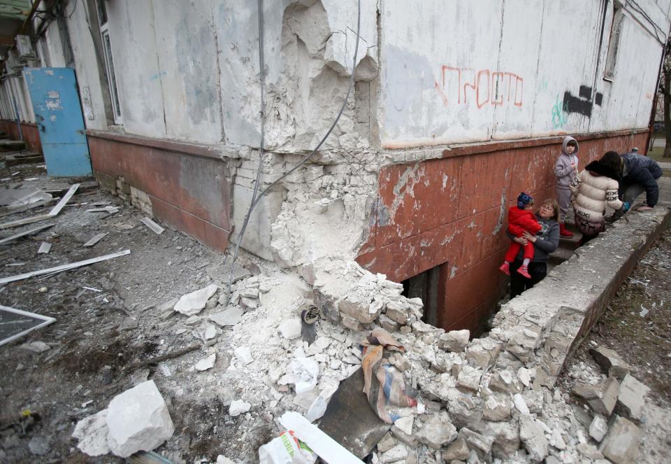
<svg viewBox="0 0 671 464"><path fill-rule="evenodd" d="M0 178L16 171L20 175L12 185L26 184L22 178L38 176L31 185L57 190L75 181L51 180L44 169L34 165L0 169ZM0 188L6 185L9 183ZM110 202L120 211L87 213L94 202ZM52 206L4 216L0 222L43 214ZM230 400L226 402L221 392L199 391L198 382L189 384L184 377L175 377L166 365L133 367L199 342L193 330L176 330L177 318L163 320L156 308L210 283L221 288L229 275L223 255L167 227L157 235L139 222L145 216L108 192L89 190L68 202L51 229L0 246L1 277L131 250L129 255L106 262L0 287L3 306L56 318L52 325L0 346L0 463L124 462L113 456L101 461L82 454L71 433L77 421L105 408L115 395L147 377L167 384L166 391L183 393L180 398L164 394L175 434L161 449L179 450L180 454L171 455L173 462L216 460L217 454L231 447L258 447L270 440L268 433L258 430L255 436L261 443L239 442L225 414ZM108 235L95 246L82 247L101 232ZM52 243L50 253L37 254L41 241ZM20 263L24 264L8 266ZM216 295L212 300L216 302ZM50 349L31 353L19 348L22 343L38 341ZM199 353L189 353L180 361L188 365L196 356ZM219 364L226 362L222 358ZM24 411L30 416L22 416ZM244 421L245 417L236 419ZM31 440L45 444L48 451L35 456L29 451Z"/></svg>

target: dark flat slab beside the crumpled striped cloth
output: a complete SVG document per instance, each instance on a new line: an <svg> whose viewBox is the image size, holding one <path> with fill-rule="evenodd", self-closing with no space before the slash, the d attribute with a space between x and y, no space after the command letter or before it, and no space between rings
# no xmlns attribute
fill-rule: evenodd
<svg viewBox="0 0 671 464"><path fill-rule="evenodd" d="M326 407L319 428L359 459L370 454L389 432L363 394L363 371L357 370L340 382Z"/></svg>

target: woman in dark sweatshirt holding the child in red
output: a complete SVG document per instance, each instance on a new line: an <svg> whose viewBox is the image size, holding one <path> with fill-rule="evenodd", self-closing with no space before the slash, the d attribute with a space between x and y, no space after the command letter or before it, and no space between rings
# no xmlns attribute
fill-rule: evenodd
<svg viewBox="0 0 671 464"><path fill-rule="evenodd" d="M531 197L530 197L531 198ZM533 200L532 200L533 201ZM540 204L540 209L535 213L535 218L540 224L540 231L536 234L524 232L521 237L515 237L506 231L508 237L522 245L510 263L510 297L517 297L524 290L528 290L536 283L542 281L547 275L547 259L549 254L556 250L559 245L559 205L555 199L549 198ZM527 272L530 278L517 272L524 265L524 246L533 244L533 258L528 263Z"/></svg>

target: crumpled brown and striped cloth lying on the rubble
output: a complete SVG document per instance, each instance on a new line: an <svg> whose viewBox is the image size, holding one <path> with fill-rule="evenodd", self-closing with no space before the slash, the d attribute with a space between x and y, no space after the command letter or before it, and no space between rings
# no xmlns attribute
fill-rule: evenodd
<svg viewBox="0 0 671 464"><path fill-rule="evenodd" d="M405 352L403 345L384 329L375 329L361 342L363 358L363 393L377 417L386 423L394 423L387 412L387 403L401 407L417 405L417 400L405 394L403 374L389 363L393 351Z"/></svg>

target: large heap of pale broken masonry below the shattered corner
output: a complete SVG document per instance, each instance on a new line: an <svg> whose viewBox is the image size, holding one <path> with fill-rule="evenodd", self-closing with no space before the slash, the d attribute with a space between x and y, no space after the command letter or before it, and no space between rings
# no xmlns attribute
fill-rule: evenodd
<svg viewBox="0 0 671 464"><path fill-rule="evenodd" d="M552 388L554 370L534 356L547 348L542 330L495 327L469 342L467 330L445 332L422 322L421 300L401 293L400 284L356 262L324 258L298 273L241 279L226 307L222 290L191 316L176 314L175 300L166 302L164 318L178 319L166 330L190 332L203 352L161 363L172 366L159 365L168 372L161 391L170 391L173 402L194 393L203 401L217 398L229 407L224 423L239 430L240 442L254 442L252 430L262 426L276 436L286 411L321 418L340 381L360 368L361 340L380 327L405 346L389 363L417 393L418 405L394 409L398 419L373 462L572 463L605 456L618 463L635 456L633 445L615 444L640 435L640 405L633 398L643 387L637 382L618 384L612 409L611 399L605 409L572 407L566 393ZM312 343L301 334L305 304L315 304L322 316ZM611 359L612 372L622 375L622 363ZM208 368L196 368L203 360ZM598 384L607 372L586 379Z"/></svg>

